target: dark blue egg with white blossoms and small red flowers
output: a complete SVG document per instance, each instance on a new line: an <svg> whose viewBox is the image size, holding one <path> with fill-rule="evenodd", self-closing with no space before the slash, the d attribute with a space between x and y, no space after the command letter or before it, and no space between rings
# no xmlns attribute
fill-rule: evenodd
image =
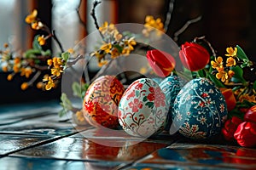
<svg viewBox="0 0 256 170"><path fill-rule="evenodd" d="M207 139L220 133L226 118L223 94L207 78L196 78L177 94L170 133L176 129L191 139Z"/></svg>

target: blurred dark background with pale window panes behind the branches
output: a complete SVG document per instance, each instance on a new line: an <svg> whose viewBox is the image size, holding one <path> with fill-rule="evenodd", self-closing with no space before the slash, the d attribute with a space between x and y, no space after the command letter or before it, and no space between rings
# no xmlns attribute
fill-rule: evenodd
<svg viewBox="0 0 256 170"><path fill-rule="evenodd" d="M96 8L100 25L106 20L118 23L144 23L146 15L153 15L166 20L166 11L170 1L174 2L172 20L167 34L173 37L188 20L201 16L201 20L190 25L178 38L177 44L190 42L194 37L207 37L220 55L225 48L240 45L247 56L255 59L256 50L256 1L253 0L102 0ZM0 49L8 42L15 51L22 53L32 48L33 31L25 23L27 14L33 8L38 9L38 17L50 29L55 30L63 48L73 48L87 34L96 28L90 17L93 0L1 0L0 1ZM83 23L86 24L86 29ZM53 53L59 49L54 42L48 42L45 48ZM38 88L20 90L23 77L14 77L7 81L8 72L0 71L0 105L31 101L59 99L61 86L47 92Z"/></svg>

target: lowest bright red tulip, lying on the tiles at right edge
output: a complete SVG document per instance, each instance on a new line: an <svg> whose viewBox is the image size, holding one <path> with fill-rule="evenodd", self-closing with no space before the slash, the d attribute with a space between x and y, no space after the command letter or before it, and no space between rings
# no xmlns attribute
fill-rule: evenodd
<svg viewBox="0 0 256 170"><path fill-rule="evenodd" d="M242 122L236 128L234 138L241 146L252 147L256 146L256 123Z"/></svg>

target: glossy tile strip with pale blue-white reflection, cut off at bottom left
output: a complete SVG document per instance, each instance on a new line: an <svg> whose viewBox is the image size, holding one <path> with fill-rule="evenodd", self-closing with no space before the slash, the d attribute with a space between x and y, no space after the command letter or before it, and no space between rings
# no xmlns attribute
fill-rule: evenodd
<svg viewBox="0 0 256 170"><path fill-rule="evenodd" d="M54 159L37 159L23 157L3 157L0 158L1 169L3 170L108 170L113 169L118 164L114 162L94 162L94 161L65 161Z"/></svg>

